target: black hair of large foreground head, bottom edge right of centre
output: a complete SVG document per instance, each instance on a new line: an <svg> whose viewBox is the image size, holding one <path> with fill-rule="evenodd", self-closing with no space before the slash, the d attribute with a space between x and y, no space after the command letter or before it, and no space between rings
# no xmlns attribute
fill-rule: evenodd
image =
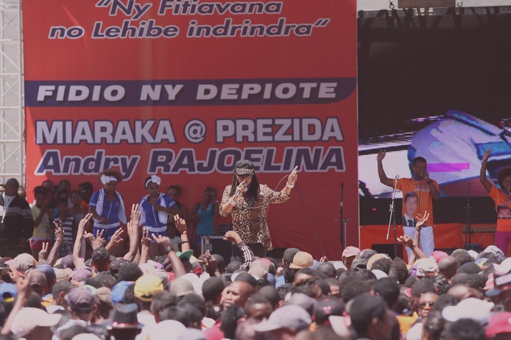
<svg viewBox="0 0 511 340"><path fill-rule="evenodd" d="M351 327L358 337L364 337L373 318L380 320L385 318L386 306L387 304L382 298L376 298L369 294L362 294L354 299L350 308Z"/></svg>

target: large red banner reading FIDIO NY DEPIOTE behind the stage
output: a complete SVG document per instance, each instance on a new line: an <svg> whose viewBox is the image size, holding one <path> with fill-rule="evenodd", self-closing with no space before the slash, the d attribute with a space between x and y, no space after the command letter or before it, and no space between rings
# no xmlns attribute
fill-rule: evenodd
<svg viewBox="0 0 511 340"><path fill-rule="evenodd" d="M291 200L270 207L274 248L340 258L342 183L358 244L355 0L26 0L23 13L29 190L97 189L114 167L126 204L158 174L191 209L239 159L270 188L298 165Z"/></svg>

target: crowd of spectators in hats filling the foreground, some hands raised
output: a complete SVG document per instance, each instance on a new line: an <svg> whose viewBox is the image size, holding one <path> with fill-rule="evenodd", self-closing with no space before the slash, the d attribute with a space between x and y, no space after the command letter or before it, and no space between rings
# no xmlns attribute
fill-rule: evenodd
<svg viewBox="0 0 511 340"><path fill-rule="evenodd" d="M133 206L128 224L139 218ZM147 233L130 228L130 249L114 257L84 230L89 219L72 254L0 259L0 340L511 339L511 258L495 246L427 257L400 238L408 263L352 246L341 261L296 248L275 259L228 231L241 261L175 251L161 235L152 239L166 256L151 258Z"/></svg>

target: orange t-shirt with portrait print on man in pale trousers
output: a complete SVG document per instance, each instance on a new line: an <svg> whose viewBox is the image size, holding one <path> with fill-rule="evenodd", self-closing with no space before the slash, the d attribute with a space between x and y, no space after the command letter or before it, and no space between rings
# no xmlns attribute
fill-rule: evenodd
<svg viewBox="0 0 511 340"><path fill-rule="evenodd" d="M394 186L396 185L396 179L393 179ZM439 190L438 183L436 180L433 180L433 185L436 190ZM426 179L423 180L415 180L413 178L400 178L398 180L399 190L403 192L403 215L406 214L407 205L405 198L410 199L412 204L411 207L415 207L413 211L413 216L409 216L410 218L414 218L417 214L424 214L424 212L429 213L428 221L426 222L427 226L433 225L433 195L429 192L429 185ZM411 193L409 197L407 197L407 193ZM410 205L409 205L410 206ZM410 212L409 212L410 213Z"/></svg>

